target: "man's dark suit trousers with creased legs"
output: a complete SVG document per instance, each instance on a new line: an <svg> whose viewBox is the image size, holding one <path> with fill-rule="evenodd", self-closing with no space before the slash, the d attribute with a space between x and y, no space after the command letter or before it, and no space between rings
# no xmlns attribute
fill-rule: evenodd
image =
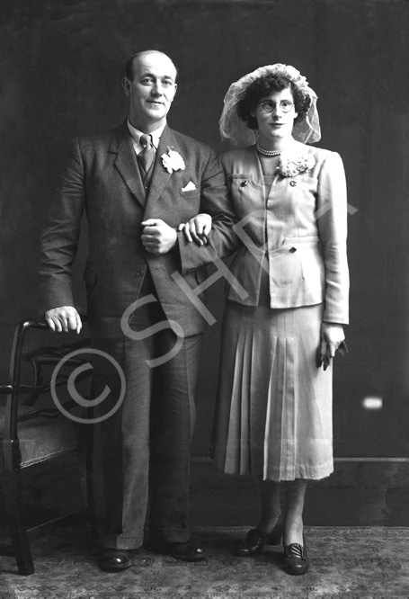
<svg viewBox="0 0 409 599"><path fill-rule="evenodd" d="M185 337L182 348L164 359L178 338L167 325L147 275L142 295L148 294L155 301L138 308L129 321L131 331L143 338L118 335L94 343L120 364L126 380L120 408L102 422L106 502L102 546L107 548L137 549L146 523L149 533L160 540L190 538L191 435L203 335ZM163 363L148 364L159 358ZM95 388L101 392L108 386L111 397L118 398L119 380L109 375L106 361L96 361L94 369Z"/></svg>

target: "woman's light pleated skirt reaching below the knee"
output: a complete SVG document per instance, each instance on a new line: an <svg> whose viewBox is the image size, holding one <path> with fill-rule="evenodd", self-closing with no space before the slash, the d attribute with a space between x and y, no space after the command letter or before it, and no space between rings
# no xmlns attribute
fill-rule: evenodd
<svg viewBox="0 0 409 599"><path fill-rule="evenodd" d="M275 481L333 471L332 365L316 365L323 307L227 301L213 431L219 469Z"/></svg>

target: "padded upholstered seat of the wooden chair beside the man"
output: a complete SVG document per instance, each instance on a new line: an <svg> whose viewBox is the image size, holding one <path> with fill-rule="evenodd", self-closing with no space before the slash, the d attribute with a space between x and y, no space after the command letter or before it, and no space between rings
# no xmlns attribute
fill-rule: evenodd
<svg viewBox="0 0 409 599"><path fill-rule="evenodd" d="M32 407L22 406L20 414L32 412ZM0 406L0 431L4 431L5 407ZM40 461L84 448L84 426L66 416L57 418L35 417L19 423L19 442L22 468Z"/></svg>

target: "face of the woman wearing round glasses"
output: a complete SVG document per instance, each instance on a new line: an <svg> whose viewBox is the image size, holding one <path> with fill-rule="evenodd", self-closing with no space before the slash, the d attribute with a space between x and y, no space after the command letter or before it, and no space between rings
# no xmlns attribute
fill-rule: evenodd
<svg viewBox="0 0 409 599"><path fill-rule="evenodd" d="M280 92L271 92L262 98L252 114L257 121L259 141L263 148L269 148L272 141L276 143L289 139L297 117L291 89L286 87Z"/></svg>

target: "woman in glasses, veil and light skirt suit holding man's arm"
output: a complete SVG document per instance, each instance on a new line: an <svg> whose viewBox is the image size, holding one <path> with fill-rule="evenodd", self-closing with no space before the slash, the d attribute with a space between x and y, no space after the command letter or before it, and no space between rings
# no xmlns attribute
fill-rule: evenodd
<svg viewBox="0 0 409 599"><path fill-rule="evenodd" d="M320 139L316 94L294 67L260 67L231 85L220 131L245 146L221 163L240 219L230 271L247 295L227 288L214 459L261 480L261 519L236 555L282 537L284 567L305 574L304 498L308 480L333 471L328 362L348 322L342 160L305 145ZM185 233L198 224L192 219Z"/></svg>

